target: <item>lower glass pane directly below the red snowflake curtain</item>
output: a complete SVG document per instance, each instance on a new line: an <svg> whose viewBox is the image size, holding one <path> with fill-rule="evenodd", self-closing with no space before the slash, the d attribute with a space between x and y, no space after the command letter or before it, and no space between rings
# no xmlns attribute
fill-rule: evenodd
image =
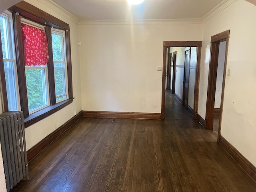
<svg viewBox="0 0 256 192"><path fill-rule="evenodd" d="M29 112L48 105L46 68L26 69L26 83Z"/></svg>

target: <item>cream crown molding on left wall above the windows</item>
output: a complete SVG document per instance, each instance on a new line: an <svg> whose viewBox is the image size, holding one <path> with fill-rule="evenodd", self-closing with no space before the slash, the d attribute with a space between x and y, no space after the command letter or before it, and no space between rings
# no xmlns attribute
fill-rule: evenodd
<svg viewBox="0 0 256 192"><path fill-rule="evenodd" d="M25 1L30 3L30 0L25 0ZM78 24L79 19L76 16L74 16L73 14L71 14L66 9L62 8L61 6L59 6L58 4L53 2L52 0L36 0L36 1L45 5L45 6L47 6L48 8L50 8L53 11L57 12L58 14L64 16L65 18L67 18L69 20L72 20L73 22ZM34 2L34 0L32 2Z"/></svg>

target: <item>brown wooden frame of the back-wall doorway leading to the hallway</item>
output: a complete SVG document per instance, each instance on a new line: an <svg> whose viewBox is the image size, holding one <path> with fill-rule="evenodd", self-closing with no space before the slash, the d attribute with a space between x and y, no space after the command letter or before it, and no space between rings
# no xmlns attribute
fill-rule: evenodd
<svg viewBox="0 0 256 192"><path fill-rule="evenodd" d="M197 112L198 112L198 95L199 95L200 60L201 60L201 51L202 51L202 41L164 41L161 119L164 119L164 110L165 110L165 78L166 78L165 74L166 74L167 47L197 47L196 78L195 78L196 80L195 80L195 92L194 92L194 114L193 114L193 118L196 120Z"/></svg>

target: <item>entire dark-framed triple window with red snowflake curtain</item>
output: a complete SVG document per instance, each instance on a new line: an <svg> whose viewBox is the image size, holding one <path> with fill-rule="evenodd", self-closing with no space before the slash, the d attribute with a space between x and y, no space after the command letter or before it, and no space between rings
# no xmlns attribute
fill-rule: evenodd
<svg viewBox="0 0 256 192"><path fill-rule="evenodd" d="M24 1L8 11L0 16L3 109L22 110L28 127L74 99L70 30Z"/></svg>

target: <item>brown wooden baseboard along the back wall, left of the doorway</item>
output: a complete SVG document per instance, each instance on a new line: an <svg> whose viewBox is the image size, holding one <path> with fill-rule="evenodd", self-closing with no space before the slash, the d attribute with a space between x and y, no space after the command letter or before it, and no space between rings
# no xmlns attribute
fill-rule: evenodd
<svg viewBox="0 0 256 192"><path fill-rule="evenodd" d="M126 118L126 119L161 119L160 113L83 111L83 117Z"/></svg>

